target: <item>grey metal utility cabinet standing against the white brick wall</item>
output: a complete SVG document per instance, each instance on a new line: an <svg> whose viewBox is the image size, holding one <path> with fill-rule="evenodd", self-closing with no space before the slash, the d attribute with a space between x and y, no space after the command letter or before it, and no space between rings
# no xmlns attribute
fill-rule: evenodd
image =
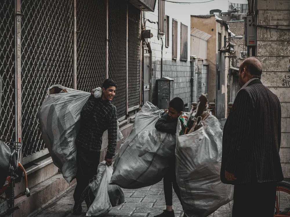
<svg viewBox="0 0 290 217"><path fill-rule="evenodd" d="M159 109L167 109L170 100L173 99L174 95L173 82L174 79L169 77L157 79L157 88L158 88L157 107Z"/></svg>

